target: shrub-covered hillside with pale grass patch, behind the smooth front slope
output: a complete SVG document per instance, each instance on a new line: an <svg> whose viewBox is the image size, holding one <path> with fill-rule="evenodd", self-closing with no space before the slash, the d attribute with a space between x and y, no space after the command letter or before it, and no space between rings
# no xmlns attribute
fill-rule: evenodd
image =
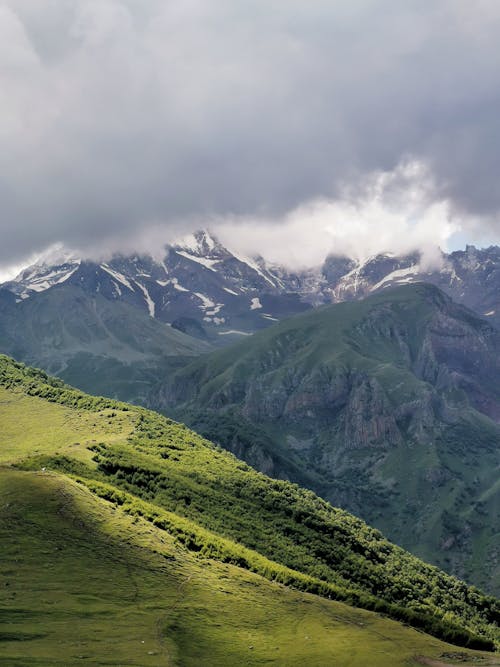
<svg viewBox="0 0 500 667"><path fill-rule="evenodd" d="M498 637L493 598L311 492L256 473L182 425L92 398L6 357L0 357L0 386L1 463L33 471L23 479L45 480L50 471L58 484L74 489L77 482L86 498L92 492L93 502L108 501L113 515L141 526L148 521L159 539L173 536L198 555L204 571L215 571L213 559L238 565L459 644L487 647ZM176 627L182 635L182 625Z"/></svg>

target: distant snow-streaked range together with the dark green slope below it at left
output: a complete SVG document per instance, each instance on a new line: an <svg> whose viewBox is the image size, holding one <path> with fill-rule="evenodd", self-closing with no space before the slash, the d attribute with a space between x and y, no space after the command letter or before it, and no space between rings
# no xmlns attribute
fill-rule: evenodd
<svg viewBox="0 0 500 667"><path fill-rule="evenodd" d="M99 263L62 247L45 253L0 285L0 351L88 391L143 402L156 367L168 373L185 357L291 315L400 284L435 284L500 323L498 247L441 253L432 270L415 252L363 262L330 255L320 267L290 271L241 256L202 230L160 257Z"/></svg>

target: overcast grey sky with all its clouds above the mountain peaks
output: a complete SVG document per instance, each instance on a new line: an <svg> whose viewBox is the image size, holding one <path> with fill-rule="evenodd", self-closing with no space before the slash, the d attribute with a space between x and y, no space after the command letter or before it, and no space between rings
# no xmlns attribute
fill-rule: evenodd
<svg viewBox="0 0 500 667"><path fill-rule="evenodd" d="M499 34L498 0L0 0L0 268L499 242Z"/></svg>

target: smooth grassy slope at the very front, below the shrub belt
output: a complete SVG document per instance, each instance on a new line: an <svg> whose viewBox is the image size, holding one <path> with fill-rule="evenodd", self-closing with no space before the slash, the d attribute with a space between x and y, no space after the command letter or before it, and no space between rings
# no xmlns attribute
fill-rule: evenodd
<svg viewBox="0 0 500 667"><path fill-rule="evenodd" d="M0 663L9 667L408 667L451 655L500 664L201 560L62 475L0 469L0 508Z"/></svg>

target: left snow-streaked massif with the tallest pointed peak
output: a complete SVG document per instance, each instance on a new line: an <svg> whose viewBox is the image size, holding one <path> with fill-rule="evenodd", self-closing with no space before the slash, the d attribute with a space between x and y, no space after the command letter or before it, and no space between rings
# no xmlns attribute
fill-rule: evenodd
<svg viewBox="0 0 500 667"><path fill-rule="evenodd" d="M72 285L125 302L188 335L225 344L309 308L261 258L227 250L199 231L165 247L163 259L116 255L107 262L43 260L0 286L18 303ZM292 286L293 287L293 286Z"/></svg>

